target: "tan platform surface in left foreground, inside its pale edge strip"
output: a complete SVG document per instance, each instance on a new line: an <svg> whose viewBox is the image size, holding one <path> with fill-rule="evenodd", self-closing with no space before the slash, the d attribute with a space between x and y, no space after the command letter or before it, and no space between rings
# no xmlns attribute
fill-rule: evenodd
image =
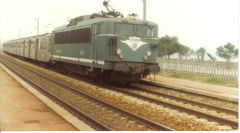
<svg viewBox="0 0 240 133"><path fill-rule="evenodd" d="M0 66L0 131L76 131Z"/></svg>

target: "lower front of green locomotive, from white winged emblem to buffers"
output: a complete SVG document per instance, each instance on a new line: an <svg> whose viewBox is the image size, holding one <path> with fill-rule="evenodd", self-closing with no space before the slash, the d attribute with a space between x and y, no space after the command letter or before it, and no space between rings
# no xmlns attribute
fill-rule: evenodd
<svg viewBox="0 0 240 133"><path fill-rule="evenodd" d="M160 68L156 63L157 40L136 36L119 37L117 39L115 71L147 75L157 73Z"/></svg>

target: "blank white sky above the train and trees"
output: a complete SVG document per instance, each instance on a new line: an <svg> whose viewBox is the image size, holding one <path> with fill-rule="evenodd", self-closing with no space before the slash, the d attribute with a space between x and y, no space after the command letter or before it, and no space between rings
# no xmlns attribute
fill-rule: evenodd
<svg viewBox="0 0 240 133"><path fill-rule="evenodd" d="M0 0L0 43L40 34L66 24L69 19L106 10L103 0ZM111 0L110 5L125 16L142 18L141 0ZM194 50L216 48L231 42L238 47L238 0L147 0L147 20L159 26L159 37L177 36Z"/></svg>

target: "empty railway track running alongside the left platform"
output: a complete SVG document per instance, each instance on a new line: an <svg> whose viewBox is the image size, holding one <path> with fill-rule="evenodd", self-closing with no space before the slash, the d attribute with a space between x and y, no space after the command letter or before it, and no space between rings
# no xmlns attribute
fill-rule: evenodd
<svg viewBox="0 0 240 133"><path fill-rule="evenodd" d="M64 103L64 106L74 110L75 113L84 115L99 130L173 130L94 98L22 65L7 61L3 57L0 57L0 61L17 75Z"/></svg>

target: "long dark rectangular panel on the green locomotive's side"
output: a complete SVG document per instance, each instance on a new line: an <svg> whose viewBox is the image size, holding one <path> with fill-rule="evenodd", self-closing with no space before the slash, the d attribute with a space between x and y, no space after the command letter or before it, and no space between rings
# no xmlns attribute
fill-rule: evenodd
<svg viewBox="0 0 240 133"><path fill-rule="evenodd" d="M55 44L91 43L91 27L55 33Z"/></svg>

